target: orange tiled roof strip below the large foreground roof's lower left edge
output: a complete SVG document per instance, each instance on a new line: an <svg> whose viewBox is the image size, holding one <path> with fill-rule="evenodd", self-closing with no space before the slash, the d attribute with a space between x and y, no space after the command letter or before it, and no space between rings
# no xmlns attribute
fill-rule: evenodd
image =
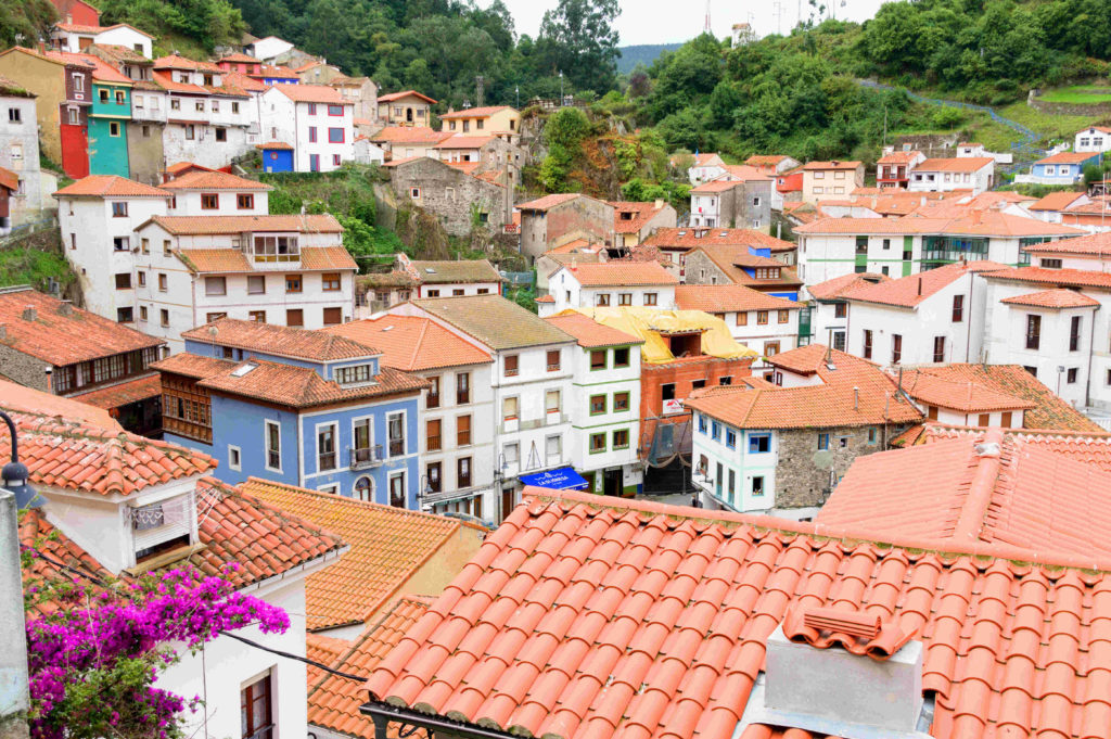
<svg viewBox="0 0 1111 739"><path fill-rule="evenodd" d="M346 649L328 662L333 670L348 675L370 677L382 658L398 646L401 638L412 631L434 598L428 596L404 596L390 603L389 609L373 626L368 627L354 643L344 642ZM318 635L308 635L309 645ZM311 668L310 668L311 669ZM374 736L374 722L360 710L367 702L367 690L362 683L338 675L321 679L309 679L309 723L323 727L348 737ZM388 739L399 739L400 725L387 725Z"/></svg>

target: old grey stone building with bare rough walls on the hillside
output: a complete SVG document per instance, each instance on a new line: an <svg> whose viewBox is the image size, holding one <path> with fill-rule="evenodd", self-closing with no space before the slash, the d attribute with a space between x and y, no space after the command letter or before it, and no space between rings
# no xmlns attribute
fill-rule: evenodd
<svg viewBox="0 0 1111 739"><path fill-rule="evenodd" d="M430 157L394 160L384 168L399 208L422 208L436 216L451 236L467 236L477 224L500 231L511 220L509 188Z"/></svg>

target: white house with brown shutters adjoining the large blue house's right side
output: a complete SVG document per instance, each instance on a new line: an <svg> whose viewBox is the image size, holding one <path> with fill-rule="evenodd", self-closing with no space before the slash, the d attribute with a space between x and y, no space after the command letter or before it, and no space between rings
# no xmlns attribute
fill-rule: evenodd
<svg viewBox="0 0 1111 739"><path fill-rule="evenodd" d="M380 316L323 330L374 347L387 367L431 383L420 413L422 501L433 513L496 520L490 352L414 316Z"/></svg>

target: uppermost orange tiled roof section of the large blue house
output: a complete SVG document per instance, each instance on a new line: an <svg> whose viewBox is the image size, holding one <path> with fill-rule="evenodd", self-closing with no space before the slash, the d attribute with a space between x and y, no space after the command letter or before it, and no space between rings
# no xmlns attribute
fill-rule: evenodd
<svg viewBox="0 0 1111 739"><path fill-rule="evenodd" d="M211 333L212 329L216 329L214 337ZM221 318L182 331L181 338L186 341L204 343L214 341L220 346L319 362L361 359L380 353L369 344L334 332L310 331L291 326L234 318Z"/></svg>

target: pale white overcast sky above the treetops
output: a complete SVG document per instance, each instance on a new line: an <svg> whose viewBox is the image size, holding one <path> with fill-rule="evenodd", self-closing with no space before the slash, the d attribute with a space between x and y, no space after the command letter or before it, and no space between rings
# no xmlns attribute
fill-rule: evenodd
<svg viewBox="0 0 1111 739"><path fill-rule="evenodd" d="M490 0L478 0L489 6ZM518 33L536 37L544 11L557 0L502 0L517 23ZM617 27L621 46L635 43L671 43L687 41L702 32L705 23L705 0L620 0L621 16ZM838 18L865 20L875 14L883 0L834 0ZM844 3L844 7L841 3ZM748 21L761 34L774 33L781 24L788 32L799 18L812 10L808 0L711 0L710 19L714 34L724 37L733 23Z"/></svg>

